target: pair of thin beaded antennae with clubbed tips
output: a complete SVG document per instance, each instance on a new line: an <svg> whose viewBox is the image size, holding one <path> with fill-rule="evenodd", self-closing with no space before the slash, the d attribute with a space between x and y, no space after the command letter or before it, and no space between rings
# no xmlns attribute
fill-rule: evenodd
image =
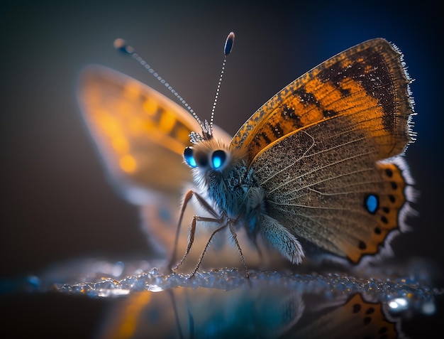
<svg viewBox="0 0 444 339"><path fill-rule="evenodd" d="M138 63L140 63L140 65L142 65L157 80L159 80L160 83L162 83L165 87L167 87L167 89L170 92L172 92L172 94L175 97L177 97L177 99L179 99L180 102L182 102L184 107L186 107L188 109L188 111L193 115L194 119L196 119L196 121L199 123L199 125L202 129L202 134L203 134L203 136L200 136L199 134L197 134L196 132L193 131L192 134L190 134L190 136L191 136L191 141L194 143L194 142L197 142L201 139L209 140L213 137L214 111L216 109L217 99L219 96L219 92L221 90L223 72L225 70L227 56L231 53L231 50L233 50L233 43L234 43L234 33L230 32L226 38L225 44L223 45L223 55L224 56L223 56L222 70L221 70L221 75L219 77L218 85L216 88L216 95L214 96L213 109L211 109L210 122L208 122L207 120L204 120L204 123L201 122L201 119L199 119L196 112L194 112L194 109L192 109L192 107L189 106L189 104L185 101L185 99L183 97L181 97L179 95L179 93L176 90L174 90L174 88L172 88L171 85L168 82L166 82L157 72L155 72L155 70L150 65L148 65L148 63L145 60L143 60L143 58L140 57L140 55L138 55L138 53L135 52L135 49L131 45L128 45L128 43L126 43L125 40L118 38L114 41L114 48L120 50L121 52L123 52L125 54L131 55Z"/></svg>

